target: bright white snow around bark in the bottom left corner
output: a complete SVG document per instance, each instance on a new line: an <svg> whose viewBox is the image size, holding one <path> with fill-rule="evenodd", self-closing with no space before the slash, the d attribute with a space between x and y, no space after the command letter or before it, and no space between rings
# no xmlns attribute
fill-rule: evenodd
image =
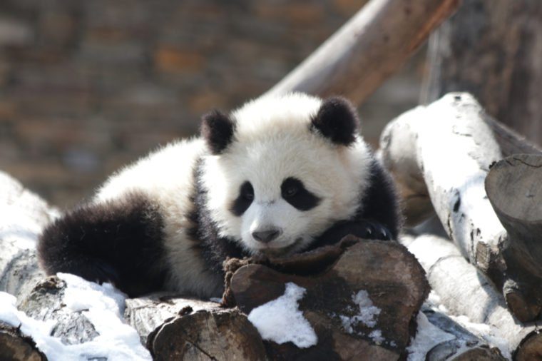
<svg viewBox="0 0 542 361"><path fill-rule="evenodd" d="M125 296L113 286L90 283L75 275L58 274L67 284L65 303L73 311L88 317L97 337L79 345L64 345L60 338L52 337L56 321L34 320L16 309L13 295L0 292L0 320L21 328L32 337L48 360L88 360L106 358L108 361L152 360L148 350L140 343L136 330L123 322Z"/></svg>

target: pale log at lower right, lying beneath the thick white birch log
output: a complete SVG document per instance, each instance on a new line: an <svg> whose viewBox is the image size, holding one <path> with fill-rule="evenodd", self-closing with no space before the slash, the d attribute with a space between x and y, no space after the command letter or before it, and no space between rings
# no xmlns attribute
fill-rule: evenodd
<svg viewBox="0 0 542 361"><path fill-rule="evenodd" d="M532 355L541 355L542 334L538 333L536 322L522 325L506 307L503 295L464 259L453 243L434 235L406 237L401 241L408 244L408 250L426 270L431 288L449 312L465 315L470 322L489 325L494 338L507 341L501 345L504 357L526 361L535 360Z"/></svg>

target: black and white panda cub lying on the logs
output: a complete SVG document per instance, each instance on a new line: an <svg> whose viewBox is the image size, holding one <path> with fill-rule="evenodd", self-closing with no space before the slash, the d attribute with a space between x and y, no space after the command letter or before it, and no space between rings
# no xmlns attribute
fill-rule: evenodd
<svg viewBox="0 0 542 361"><path fill-rule="evenodd" d="M113 174L44 230L48 274L111 282L131 297L223 293L227 257L289 255L344 235L397 238L389 175L343 98L264 96L203 116L200 138Z"/></svg>

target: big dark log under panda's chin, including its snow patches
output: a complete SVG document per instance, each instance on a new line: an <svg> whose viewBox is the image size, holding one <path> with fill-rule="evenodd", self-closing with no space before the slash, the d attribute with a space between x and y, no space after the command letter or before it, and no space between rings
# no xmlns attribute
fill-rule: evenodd
<svg viewBox="0 0 542 361"><path fill-rule="evenodd" d="M348 236L294 259L241 264L231 278L232 296L260 330L272 360L397 360L404 354L429 292L406 248Z"/></svg>

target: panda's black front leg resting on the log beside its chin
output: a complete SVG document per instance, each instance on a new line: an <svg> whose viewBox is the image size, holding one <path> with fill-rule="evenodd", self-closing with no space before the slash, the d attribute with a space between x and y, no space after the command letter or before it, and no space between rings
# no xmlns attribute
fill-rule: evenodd
<svg viewBox="0 0 542 361"><path fill-rule="evenodd" d="M385 225L374 220L362 219L335 223L319 236L315 245L319 247L339 243L347 235L369 240L392 240L392 233Z"/></svg>

